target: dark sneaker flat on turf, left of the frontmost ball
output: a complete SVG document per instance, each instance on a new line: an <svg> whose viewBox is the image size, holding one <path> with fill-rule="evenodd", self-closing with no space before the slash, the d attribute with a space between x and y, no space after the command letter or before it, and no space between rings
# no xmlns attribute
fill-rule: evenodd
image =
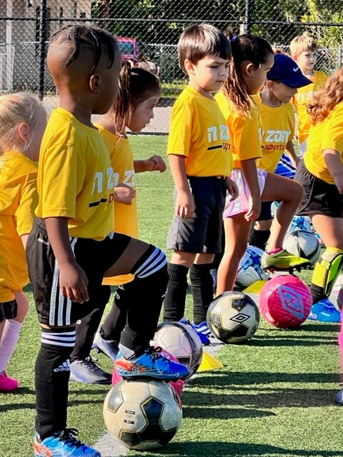
<svg viewBox="0 0 343 457"><path fill-rule="evenodd" d="M74 360L70 363L69 381L77 381L86 384L111 384L112 375L106 373L96 359L91 356Z"/></svg>

